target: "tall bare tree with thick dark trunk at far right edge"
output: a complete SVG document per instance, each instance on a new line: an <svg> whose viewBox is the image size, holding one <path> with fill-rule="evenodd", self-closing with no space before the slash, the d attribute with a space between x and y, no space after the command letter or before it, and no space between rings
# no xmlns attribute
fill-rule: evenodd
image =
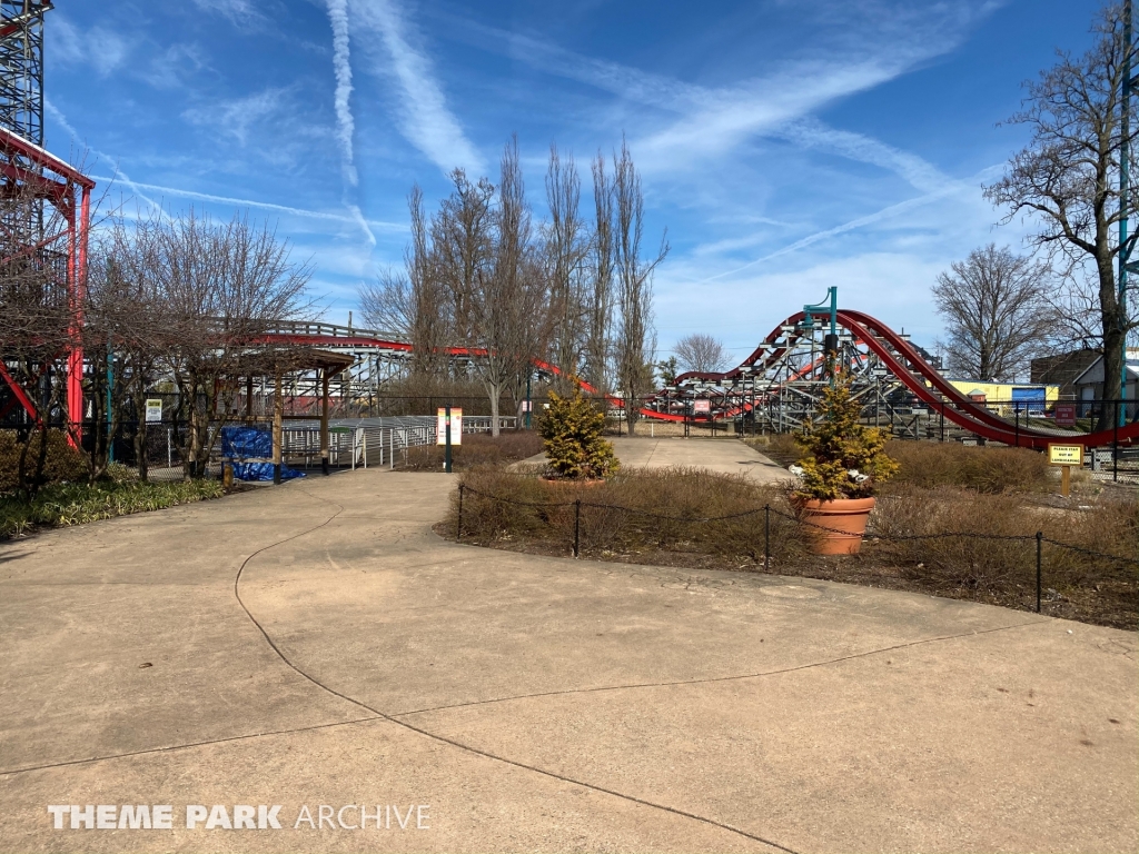
<svg viewBox="0 0 1139 854"><path fill-rule="evenodd" d="M1070 327L1095 327L1103 343L1106 399L1118 399L1122 346L1136 327L1118 299L1115 261L1126 258L1134 236L1116 239L1125 210L1134 215L1133 199L1121 207L1118 198L1121 85L1129 46L1123 38L1123 10L1105 8L1093 26L1095 46L1081 57L1060 52L1059 61L1027 85L1025 108L1009 121L1032 131L1032 141L1016 154L1005 176L985 188L985 196L1008 208L1006 222L1027 215L1036 224L1034 243L1054 261L1064 262L1068 287L1060 309L1075 310L1065 319ZM1130 105L1129 105L1130 107ZM1134 146L1136 128L1128 132ZM1090 297L1090 298L1089 298ZM1084 309L1089 312L1083 317ZM1089 323L1089 321L1091 321Z"/></svg>

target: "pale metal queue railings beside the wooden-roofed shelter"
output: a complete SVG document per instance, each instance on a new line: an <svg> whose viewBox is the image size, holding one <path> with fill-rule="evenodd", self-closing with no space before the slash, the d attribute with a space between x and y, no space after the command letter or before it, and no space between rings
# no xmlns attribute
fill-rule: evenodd
<svg viewBox="0 0 1139 854"><path fill-rule="evenodd" d="M513 430L518 419L499 416L499 429ZM328 422L328 462L331 466L387 466L395 468L401 451L435 444L437 419L431 416L393 418L342 418ZM464 416L462 432L490 433L491 416ZM312 421L285 425L284 452L287 460L305 466L320 462L320 428Z"/></svg>

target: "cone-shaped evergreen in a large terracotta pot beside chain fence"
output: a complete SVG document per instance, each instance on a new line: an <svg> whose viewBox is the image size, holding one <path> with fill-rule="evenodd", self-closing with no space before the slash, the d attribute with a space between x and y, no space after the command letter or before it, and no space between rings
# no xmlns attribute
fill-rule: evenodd
<svg viewBox="0 0 1139 854"><path fill-rule="evenodd" d="M795 499L811 523L817 555L854 555L875 504L875 488L898 471L882 430L860 422L862 404L851 397L851 377L835 376L822 393L822 421L800 440L810 453L793 466L801 478Z"/></svg>

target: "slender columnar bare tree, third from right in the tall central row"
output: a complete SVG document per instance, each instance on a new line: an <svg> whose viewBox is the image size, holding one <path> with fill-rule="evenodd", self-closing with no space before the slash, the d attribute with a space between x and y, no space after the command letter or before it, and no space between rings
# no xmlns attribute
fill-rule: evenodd
<svg viewBox="0 0 1139 854"><path fill-rule="evenodd" d="M562 369L556 383L570 391L570 377L581 367L585 338L585 266L589 238L579 212L581 179L573 156L562 161L557 146L550 146L546 173L546 202L550 221L546 225L546 254L549 268L550 321L554 361Z"/></svg>

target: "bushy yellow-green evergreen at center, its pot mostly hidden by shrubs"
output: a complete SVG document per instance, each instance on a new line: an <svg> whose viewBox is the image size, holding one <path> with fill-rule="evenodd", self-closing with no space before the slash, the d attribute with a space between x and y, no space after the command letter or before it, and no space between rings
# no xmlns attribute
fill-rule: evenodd
<svg viewBox="0 0 1139 854"><path fill-rule="evenodd" d="M555 477L598 481L617 470L613 444L601 436L605 414L581 394L581 380L570 377L573 392L550 392L549 409L539 427L546 458Z"/></svg>

